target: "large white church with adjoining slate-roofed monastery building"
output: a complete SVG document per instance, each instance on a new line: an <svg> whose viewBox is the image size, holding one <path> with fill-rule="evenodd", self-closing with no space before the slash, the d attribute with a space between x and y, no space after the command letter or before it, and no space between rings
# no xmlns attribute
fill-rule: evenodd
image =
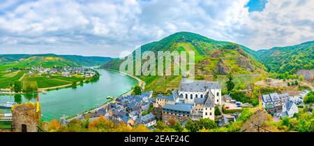
<svg viewBox="0 0 314 146"><path fill-rule="evenodd" d="M157 96L154 106L162 108L164 123L169 119L179 122L200 118L214 120L215 105L221 105L221 100L218 82L182 78L179 89L174 89L170 96Z"/></svg>

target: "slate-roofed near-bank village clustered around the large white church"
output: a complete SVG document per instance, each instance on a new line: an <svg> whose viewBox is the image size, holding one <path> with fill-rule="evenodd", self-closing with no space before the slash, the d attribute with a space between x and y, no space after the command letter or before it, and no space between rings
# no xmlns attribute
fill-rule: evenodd
<svg viewBox="0 0 314 146"><path fill-rule="evenodd" d="M303 107L304 96L309 92L304 90L299 96L290 96L287 93L261 94L260 102L262 108L278 122L281 117L293 117L297 114L298 107ZM158 94L153 97L152 91L119 96L105 106L75 119L89 119L93 122L101 116L115 124L122 122L130 127L143 124L151 130L154 130L158 121L166 125L173 124L173 121L179 122L184 127L189 119L211 119L218 127L223 127L236 122L245 108L253 108L253 105L236 101L228 94L221 95L218 82L183 78L179 89L172 90L168 96ZM60 123L66 125L71 120L73 118L61 117Z"/></svg>

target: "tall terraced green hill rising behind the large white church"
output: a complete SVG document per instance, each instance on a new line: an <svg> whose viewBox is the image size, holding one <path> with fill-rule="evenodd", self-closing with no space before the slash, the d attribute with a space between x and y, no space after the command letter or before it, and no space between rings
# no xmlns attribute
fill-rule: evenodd
<svg viewBox="0 0 314 146"><path fill-rule="evenodd" d="M266 73L266 68L255 59L255 51L243 45L225 41L215 41L210 38L190 32L178 32L160 41L141 46L142 52L158 51L194 51L195 73L197 79L207 75L252 74ZM134 54L135 52L133 52ZM157 53L156 53L157 54ZM123 60L112 59L103 68L119 70ZM147 82L147 89L160 89L173 85L177 87L181 76L140 76Z"/></svg>

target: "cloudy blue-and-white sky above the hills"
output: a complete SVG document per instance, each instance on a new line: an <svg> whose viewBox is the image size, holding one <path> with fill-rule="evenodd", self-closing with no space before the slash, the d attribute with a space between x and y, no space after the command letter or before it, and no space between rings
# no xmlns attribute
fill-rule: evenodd
<svg viewBox="0 0 314 146"><path fill-rule="evenodd" d="M314 40L314 0L0 0L0 54L121 52L190 31L252 50Z"/></svg>

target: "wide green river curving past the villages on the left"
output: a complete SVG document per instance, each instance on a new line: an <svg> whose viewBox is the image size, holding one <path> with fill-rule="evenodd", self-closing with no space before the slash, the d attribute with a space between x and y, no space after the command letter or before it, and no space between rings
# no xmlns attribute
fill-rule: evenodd
<svg viewBox="0 0 314 146"><path fill-rule="evenodd" d="M103 105L107 96L119 96L137 85L137 80L122 73L97 70L100 78L97 82L77 86L77 89L66 88L40 93L40 109L43 121L59 119L63 114L73 117L82 112ZM0 103L36 102L36 95L0 96ZM0 108L0 113L10 113L10 108Z"/></svg>

